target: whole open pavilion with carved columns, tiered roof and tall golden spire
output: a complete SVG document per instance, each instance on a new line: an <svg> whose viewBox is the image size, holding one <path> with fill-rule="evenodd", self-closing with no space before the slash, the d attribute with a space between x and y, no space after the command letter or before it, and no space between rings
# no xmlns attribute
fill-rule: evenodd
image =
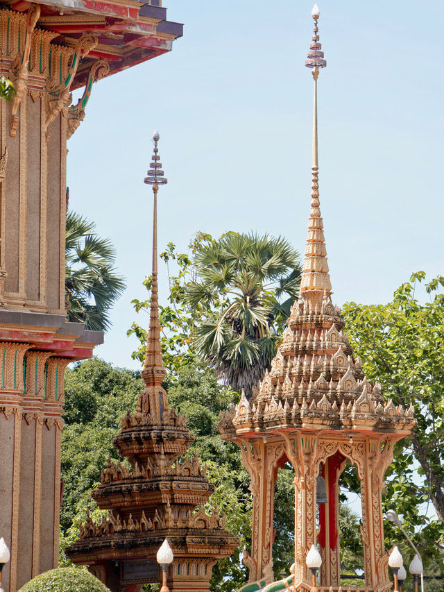
<svg viewBox="0 0 444 592"><path fill-rule="evenodd" d="M382 489L395 443L411 433L413 408L384 403L378 384L370 384L355 358L339 307L331 300L318 185L317 85L326 61L314 34L305 65L314 81L311 210L300 295L291 308L282 344L250 400L221 418L222 437L241 448L253 491L253 534L244 562L250 583L273 582L273 502L278 468L290 462L295 486L294 589L311 589L307 552L318 544L323 559L321 586L337 591L339 566L339 476L347 461L361 483L366 589L388 590L384 550ZM318 477L327 502L316 507ZM332 587L330 587L332 586Z"/></svg>

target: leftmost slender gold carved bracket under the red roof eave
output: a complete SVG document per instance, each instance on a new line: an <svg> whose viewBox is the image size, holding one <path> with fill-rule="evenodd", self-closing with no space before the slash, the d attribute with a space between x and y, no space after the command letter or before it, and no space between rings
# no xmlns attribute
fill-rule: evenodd
<svg viewBox="0 0 444 592"><path fill-rule="evenodd" d="M15 95L11 101L10 106L10 136L15 137L17 133L17 126L19 124L19 117L17 115L19 105L23 97L26 95L26 87L28 85L28 63L29 53L31 51L31 42L33 39L33 31L37 21L40 17L40 6L38 4L31 4L28 8L27 26L26 26L26 41L23 52L16 54L11 67L11 78L14 83Z"/></svg>

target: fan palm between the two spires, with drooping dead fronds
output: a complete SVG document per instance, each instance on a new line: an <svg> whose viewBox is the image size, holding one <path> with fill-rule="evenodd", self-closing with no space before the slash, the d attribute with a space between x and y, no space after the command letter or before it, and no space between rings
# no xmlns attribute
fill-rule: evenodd
<svg viewBox="0 0 444 592"><path fill-rule="evenodd" d="M300 256L282 237L229 232L200 246L194 263L187 302L207 310L196 349L220 380L249 397L271 366L298 294Z"/></svg>

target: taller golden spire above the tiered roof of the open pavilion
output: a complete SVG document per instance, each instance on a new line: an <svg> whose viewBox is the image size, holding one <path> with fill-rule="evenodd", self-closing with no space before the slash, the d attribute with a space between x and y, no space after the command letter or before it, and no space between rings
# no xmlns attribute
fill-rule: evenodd
<svg viewBox="0 0 444 592"><path fill-rule="evenodd" d="M321 210L319 208L318 185L318 76L319 69L325 68L324 52L321 51L318 35L319 8L315 4L311 10L314 19L314 33L311 37L309 52L305 65L313 74L313 162L311 164L311 211L308 222L307 246L305 247L305 260L302 267L300 281L300 295L308 296L312 304L321 303L324 294L332 294L332 285L328 274L327 251Z"/></svg>

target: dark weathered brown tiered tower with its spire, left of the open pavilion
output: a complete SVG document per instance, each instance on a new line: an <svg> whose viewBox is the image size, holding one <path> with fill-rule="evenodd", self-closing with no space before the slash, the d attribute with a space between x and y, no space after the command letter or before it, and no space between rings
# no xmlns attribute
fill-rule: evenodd
<svg viewBox="0 0 444 592"><path fill-rule="evenodd" d="M169 407L162 388L167 371L162 362L157 296L157 192L167 179L159 162L159 135L155 133L153 139L153 162L145 179L154 194L153 282L142 370L146 387L135 413L123 417L121 432L114 438L114 446L130 468L108 461L92 496L101 509L109 510L109 518L103 517L99 525L88 518L67 555L75 564L87 565L112 592L132 591L161 580L155 557L168 539L174 554L168 568L171 592L206 592L214 564L229 557L239 539L225 530L225 517L217 506L211 515L203 510L214 486L197 454L191 460L180 459L194 435L185 416Z"/></svg>

